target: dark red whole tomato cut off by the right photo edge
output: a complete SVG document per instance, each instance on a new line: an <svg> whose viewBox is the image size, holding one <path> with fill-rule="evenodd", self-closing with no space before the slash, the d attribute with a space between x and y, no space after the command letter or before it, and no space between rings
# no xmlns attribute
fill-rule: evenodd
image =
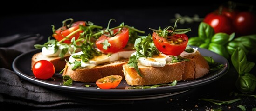
<svg viewBox="0 0 256 111"><path fill-rule="evenodd" d="M240 35L253 34L256 31L256 17L251 12L240 12L235 16L235 31Z"/></svg>

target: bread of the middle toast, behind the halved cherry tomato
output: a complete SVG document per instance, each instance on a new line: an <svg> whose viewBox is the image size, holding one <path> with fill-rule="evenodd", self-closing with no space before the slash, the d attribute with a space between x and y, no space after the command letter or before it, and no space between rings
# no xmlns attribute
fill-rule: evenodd
<svg viewBox="0 0 256 111"><path fill-rule="evenodd" d="M127 64L128 60L129 59L122 59L113 62L106 62L93 68L80 67L75 70L72 70L72 66L69 63L66 63L66 67L64 68L62 75L69 75L73 81L84 83L96 82L98 79L109 75L121 75L124 78L122 66Z"/></svg>

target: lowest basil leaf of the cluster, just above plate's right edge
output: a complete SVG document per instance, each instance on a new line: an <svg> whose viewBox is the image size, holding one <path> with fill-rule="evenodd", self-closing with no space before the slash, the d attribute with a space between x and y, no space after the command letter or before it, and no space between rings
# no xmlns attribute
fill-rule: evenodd
<svg viewBox="0 0 256 111"><path fill-rule="evenodd" d="M229 58L228 51L223 45L216 44L216 43L210 43L208 50L213 51L213 52L225 57L226 59Z"/></svg>

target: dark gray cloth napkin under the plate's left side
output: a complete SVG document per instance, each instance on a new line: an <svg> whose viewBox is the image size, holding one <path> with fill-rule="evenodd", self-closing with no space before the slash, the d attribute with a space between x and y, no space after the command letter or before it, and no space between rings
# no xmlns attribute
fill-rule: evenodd
<svg viewBox="0 0 256 111"><path fill-rule="evenodd" d="M133 101L103 101L84 99L37 86L14 73L15 57L34 48L42 41L40 34L16 34L0 37L0 106L58 107L63 105L132 104ZM6 42L3 42L6 41ZM42 44L42 43L41 43ZM2 108L2 107L1 107Z"/></svg>

